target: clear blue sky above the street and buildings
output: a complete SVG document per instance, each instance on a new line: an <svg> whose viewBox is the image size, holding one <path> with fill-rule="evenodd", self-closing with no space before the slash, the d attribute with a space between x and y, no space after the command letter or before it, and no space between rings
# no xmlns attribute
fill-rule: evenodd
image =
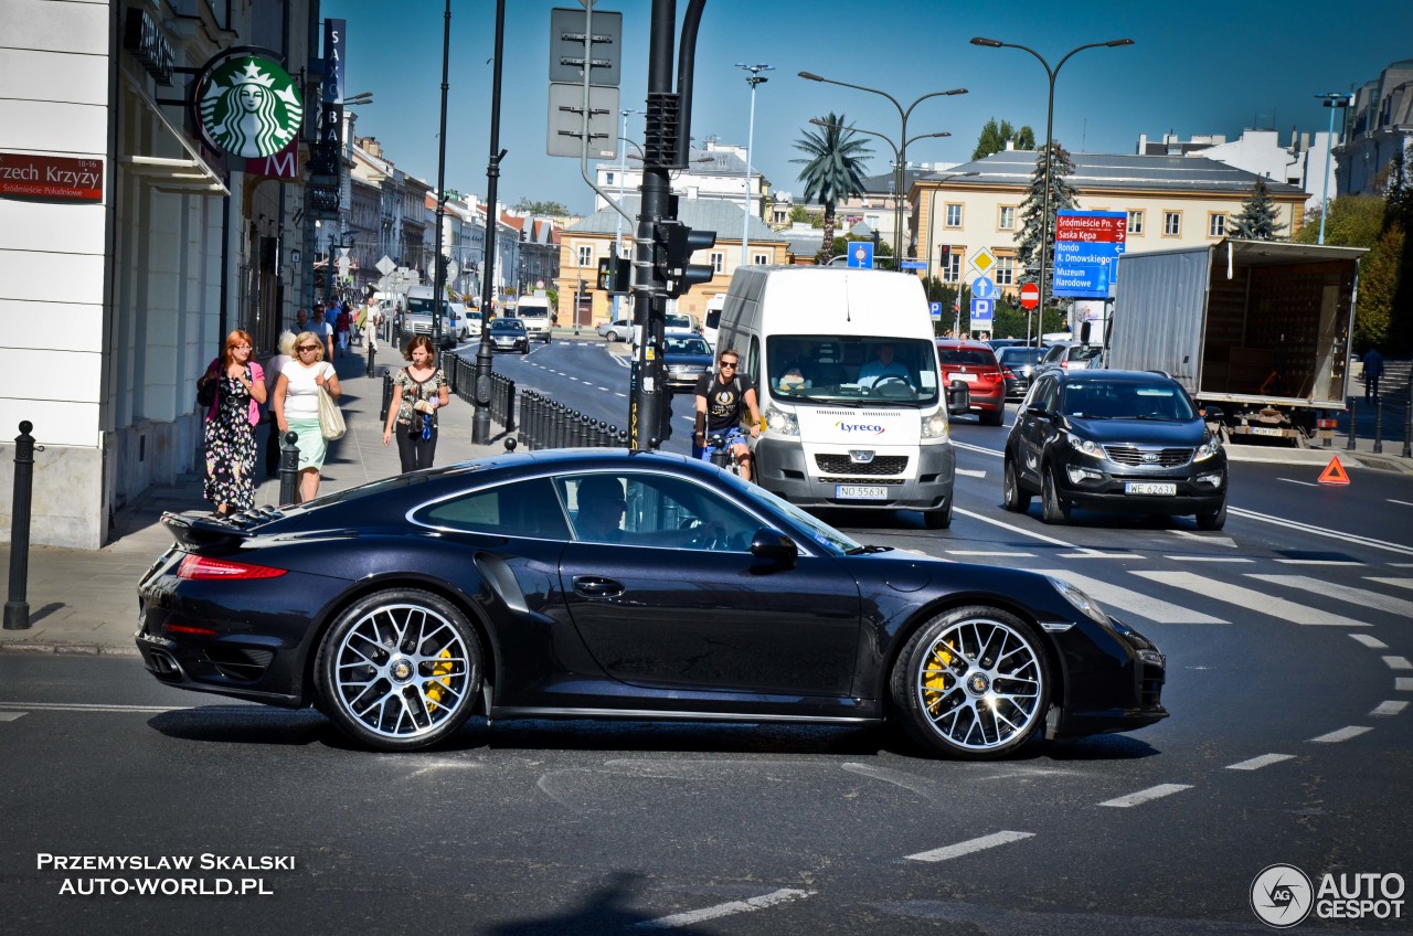
<svg viewBox="0 0 1413 936"><path fill-rule="evenodd" d="M554 199L588 212L592 191L578 160L545 154L550 8L574 0L509 0L500 146L500 199ZM678 0L678 16L687 0ZM647 88L649 0L599 0L596 10L623 13L625 109L643 109ZM321 13L348 21L348 85L376 102L359 107L357 133L376 136L400 168L437 182L437 131L445 0L324 0ZM1003 16L1002 16L1003 14ZM1323 8L1287 1L1170 3L1169 0L1071 0L1007 4L880 0L708 0L697 44L692 136L746 144L750 92L738 62L764 62L769 82L756 92L752 164L774 189L801 191L793 144L810 117L829 110L849 123L897 140L900 120L877 95L821 85L825 78L892 93L906 107L951 88L969 93L920 103L909 161L961 163L971 157L992 116L1044 137L1047 79L1029 54L981 48L983 35L1029 45L1051 66L1085 42L1132 38L1128 48L1085 49L1056 83L1056 139L1074 151L1133 153L1149 139L1181 139L1243 127L1314 133L1330 112L1314 95L1349 90L1376 79L1393 61L1413 58L1413 4L1344 0ZM447 185L486 191L495 48L493 0L452 0ZM627 136L642 141L640 116ZM886 172L887 144L873 140L869 171ZM593 160L591 160L592 171Z"/></svg>

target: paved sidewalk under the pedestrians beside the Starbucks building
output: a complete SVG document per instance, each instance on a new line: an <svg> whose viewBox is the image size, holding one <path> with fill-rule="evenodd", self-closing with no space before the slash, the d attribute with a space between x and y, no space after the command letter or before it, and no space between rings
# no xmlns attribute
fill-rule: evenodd
<svg viewBox="0 0 1413 936"><path fill-rule="evenodd" d="M367 481L389 478L401 471L397 444L383 445L383 423L377 419L383 404L383 372L406 362L386 342L379 342L377 376L365 376L367 349L349 348L349 355L335 358L343 396L339 406L348 434L329 444L319 492L341 491ZM441 410L437 464L449 465L468 458L504 451L503 428L492 423L492 444L472 444L473 407L452 394L451 406ZM267 427L257 427L260 472L264 472ZM27 601L30 628L0 631L0 652L30 653L112 653L137 656L133 632L137 631L137 581L147 567L171 546L171 536L161 526L167 510L212 510L201 496L201 476L182 478L174 485L154 485L120 509L114 517L113 542L97 551L55 546L30 547ZM278 503L280 481L263 481L256 488L256 505ZM10 568L10 544L0 543L0 568Z"/></svg>

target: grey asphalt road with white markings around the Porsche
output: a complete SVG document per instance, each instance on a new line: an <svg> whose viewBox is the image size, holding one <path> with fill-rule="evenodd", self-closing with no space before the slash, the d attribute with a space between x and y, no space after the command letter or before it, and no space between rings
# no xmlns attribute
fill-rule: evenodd
<svg viewBox="0 0 1413 936"><path fill-rule="evenodd" d="M606 359L555 342L496 368L586 380L561 399L626 410ZM1167 653L1170 720L1002 764L933 761L877 728L483 720L438 751L377 755L317 713L171 690L136 660L0 656L0 919L25 933L1256 933L1269 865L1316 888L1327 872L1413 877L1413 484L1355 469L1348 488L1308 488L1308 468L1239 462L1219 533L1082 512L1047 526L1039 506L999 505L1003 435L955 424L951 530L829 519L1075 581ZM44 854L294 867L71 871ZM96 878L273 894L65 892ZM1402 899L1396 919L1311 915L1296 932L1409 932Z"/></svg>

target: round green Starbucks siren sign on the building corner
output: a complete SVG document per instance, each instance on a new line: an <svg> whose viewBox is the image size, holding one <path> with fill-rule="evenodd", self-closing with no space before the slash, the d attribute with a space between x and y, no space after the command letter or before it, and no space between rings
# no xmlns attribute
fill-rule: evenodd
<svg viewBox="0 0 1413 936"><path fill-rule="evenodd" d="M300 133L304 102L280 65L254 55L223 64L201 95L206 137L232 156L274 156Z"/></svg>

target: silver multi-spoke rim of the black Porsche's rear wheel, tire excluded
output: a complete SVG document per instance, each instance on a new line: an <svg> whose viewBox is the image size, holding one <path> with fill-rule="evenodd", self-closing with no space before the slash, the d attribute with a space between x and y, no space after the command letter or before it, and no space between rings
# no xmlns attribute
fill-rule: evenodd
<svg viewBox="0 0 1413 936"><path fill-rule="evenodd" d="M363 730L408 739L472 704L475 666L461 631L435 609L383 604L333 648L333 704Z"/></svg>

